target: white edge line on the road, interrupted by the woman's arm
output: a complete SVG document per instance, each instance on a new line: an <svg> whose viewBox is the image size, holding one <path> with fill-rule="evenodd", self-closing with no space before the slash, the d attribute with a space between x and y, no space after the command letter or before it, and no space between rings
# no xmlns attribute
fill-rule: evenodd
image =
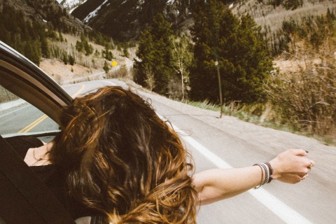
<svg viewBox="0 0 336 224"><path fill-rule="evenodd" d="M162 116L158 115L162 120L166 120ZM176 132L178 132L182 139L184 139L188 144L193 146L197 151L202 153L205 158L210 160L211 162L216 165L216 167L225 169L225 168L232 168L231 165L228 164L228 162L225 162L222 160L218 155L212 153L209 151L209 149L202 146L202 144L198 143L193 139L192 137L188 136L185 132L179 129L179 127L176 127L173 125L173 128ZM302 215L294 211L294 209L288 207L285 203L281 202L278 198L274 197L274 195L267 192L267 190L264 189L258 189L258 190L248 190L248 193L250 193L253 197L255 197L256 200L258 200L260 203L265 205L267 209L271 210L276 216L281 218L285 223L288 224L312 224L310 221L307 220L307 218L304 218Z"/></svg>

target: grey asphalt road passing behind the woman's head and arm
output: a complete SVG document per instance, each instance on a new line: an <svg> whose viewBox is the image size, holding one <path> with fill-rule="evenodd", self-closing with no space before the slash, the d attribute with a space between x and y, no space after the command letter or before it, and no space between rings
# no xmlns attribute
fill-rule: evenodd
<svg viewBox="0 0 336 224"><path fill-rule="evenodd" d="M76 97L102 85L126 87L117 80L98 80L66 85L64 89ZM296 134L257 127L238 119L233 119L233 122L232 118L220 119L199 110L186 113L179 106L174 106L178 102L148 93L141 95L150 98L157 113L167 118L181 134L186 148L193 154L196 172L265 162L287 148L309 148L309 156L316 161L309 178L296 185L272 181L258 190L201 207L199 223L336 223L336 147L324 146L314 139ZM20 127L27 123L28 127L43 116L33 112L34 116L19 120L20 110L31 110L25 104L10 110L0 113L1 120L6 121L0 130L20 132L22 128L15 130L15 123L20 123ZM48 119L44 118L30 131L53 127L55 124ZM223 122L227 122L224 128L218 126Z"/></svg>

